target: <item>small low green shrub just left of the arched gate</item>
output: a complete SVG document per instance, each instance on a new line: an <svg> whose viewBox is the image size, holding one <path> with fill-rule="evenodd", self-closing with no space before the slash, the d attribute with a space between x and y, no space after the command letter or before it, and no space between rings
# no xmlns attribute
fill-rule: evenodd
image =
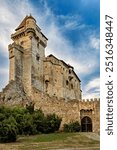
<svg viewBox="0 0 117 150"><path fill-rule="evenodd" d="M79 132L81 126L78 121L70 122L69 124L64 124L64 132Z"/></svg>

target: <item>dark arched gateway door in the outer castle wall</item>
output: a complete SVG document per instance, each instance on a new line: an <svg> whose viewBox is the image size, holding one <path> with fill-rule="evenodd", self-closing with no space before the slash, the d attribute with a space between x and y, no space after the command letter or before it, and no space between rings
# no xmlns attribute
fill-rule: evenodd
<svg viewBox="0 0 117 150"><path fill-rule="evenodd" d="M92 120L90 117L85 116L81 120L82 132L92 132Z"/></svg>

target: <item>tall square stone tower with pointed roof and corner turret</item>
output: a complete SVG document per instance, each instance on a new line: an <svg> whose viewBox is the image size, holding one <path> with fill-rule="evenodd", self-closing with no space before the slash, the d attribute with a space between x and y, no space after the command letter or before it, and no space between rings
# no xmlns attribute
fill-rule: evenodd
<svg viewBox="0 0 117 150"><path fill-rule="evenodd" d="M9 80L22 83L24 91L31 96L32 87L43 91L43 60L47 38L36 25L36 20L26 16L11 35L14 41L9 45Z"/></svg>

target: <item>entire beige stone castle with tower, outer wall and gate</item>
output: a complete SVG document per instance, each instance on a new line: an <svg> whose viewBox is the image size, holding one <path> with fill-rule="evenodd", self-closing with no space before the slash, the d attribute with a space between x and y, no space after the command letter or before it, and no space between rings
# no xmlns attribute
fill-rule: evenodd
<svg viewBox="0 0 117 150"><path fill-rule="evenodd" d="M35 104L45 114L56 113L64 123L79 121L82 131L100 131L99 99L82 100L74 68L52 54L45 57L47 37L36 20L26 16L11 35L9 84L0 92L5 105Z"/></svg>

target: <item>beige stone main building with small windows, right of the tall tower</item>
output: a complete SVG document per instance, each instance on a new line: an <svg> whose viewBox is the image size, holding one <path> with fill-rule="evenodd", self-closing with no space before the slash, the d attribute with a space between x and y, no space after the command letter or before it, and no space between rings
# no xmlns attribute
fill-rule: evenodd
<svg viewBox="0 0 117 150"><path fill-rule="evenodd" d="M81 99L80 79L72 66L49 55L44 60L45 91L50 96Z"/></svg>

